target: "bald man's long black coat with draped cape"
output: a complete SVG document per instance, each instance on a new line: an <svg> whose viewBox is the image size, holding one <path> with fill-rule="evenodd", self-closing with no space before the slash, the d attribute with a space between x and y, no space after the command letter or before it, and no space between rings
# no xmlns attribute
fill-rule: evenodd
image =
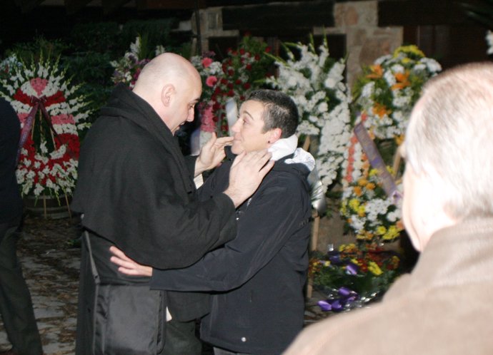
<svg viewBox="0 0 493 355"><path fill-rule="evenodd" d="M84 140L72 202L73 210L84 213L101 282L95 287L84 244L77 354L91 354L93 339L96 354L103 346L105 354L156 354L164 338L166 304L178 320L206 312L206 304L195 297L151 291L148 279L119 274L108 251L116 245L142 264L178 268L236 235L229 197L198 200L194 163L181 155L146 101L124 86L115 88Z"/></svg>

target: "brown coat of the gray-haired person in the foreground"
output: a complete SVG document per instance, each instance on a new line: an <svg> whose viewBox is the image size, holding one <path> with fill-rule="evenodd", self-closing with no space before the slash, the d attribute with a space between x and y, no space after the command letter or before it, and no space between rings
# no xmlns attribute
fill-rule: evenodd
<svg viewBox="0 0 493 355"><path fill-rule="evenodd" d="M435 233L382 303L302 331L285 355L493 354L493 219Z"/></svg>

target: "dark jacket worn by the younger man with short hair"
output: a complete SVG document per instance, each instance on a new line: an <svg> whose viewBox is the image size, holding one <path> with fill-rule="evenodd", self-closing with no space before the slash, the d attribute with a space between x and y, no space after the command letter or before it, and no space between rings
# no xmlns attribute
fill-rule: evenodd
<svg viewBox="0 0 493 355"><path fill-rule="evenodd" d="M290 157L286 157L290 158ZM216 291L201 339L230 351L280 354L303 326L311 206L306 166L277 161L236 215L238 235L192 267L160 271L151 288ZM231 162L206 180L203 198L228 183Z"/></svg>

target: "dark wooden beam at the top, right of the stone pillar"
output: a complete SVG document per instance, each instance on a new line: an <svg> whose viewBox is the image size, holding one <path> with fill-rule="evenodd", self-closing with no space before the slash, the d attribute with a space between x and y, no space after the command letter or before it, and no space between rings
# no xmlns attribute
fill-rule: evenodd
<svg viewBox="0 0 493 355"><path fill-rule="evenodd" d="M379 26L464 24L464 10L451 0L379 1Z"/></svg>

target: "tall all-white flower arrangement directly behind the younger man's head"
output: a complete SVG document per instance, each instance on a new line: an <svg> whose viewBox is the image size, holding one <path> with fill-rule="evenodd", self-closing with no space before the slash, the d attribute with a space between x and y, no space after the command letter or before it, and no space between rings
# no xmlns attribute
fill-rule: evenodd
<svg viewBox="0 0 493 355"><path fill-rule="evenodd" d="M344 83L344 60L330 58L327 39L316 51L308 45L284 43L288 60L273 57L279 76L267 83L287 93L297 104L301 122L297 133L319 140L317 169L324 191L337 180L349 140L349 98ZM299 52L299 56L295 54Z"/></svg>

